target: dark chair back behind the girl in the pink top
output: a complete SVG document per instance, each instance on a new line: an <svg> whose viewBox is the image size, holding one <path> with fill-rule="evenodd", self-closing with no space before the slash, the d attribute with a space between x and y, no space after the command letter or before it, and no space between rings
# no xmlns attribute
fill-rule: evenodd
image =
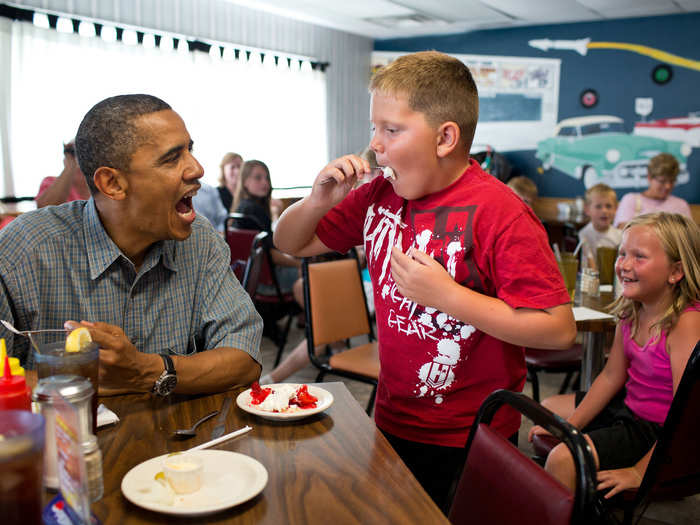
<svg viewBox="0 0 700 525"><path fill-rule="evenodd" d="M666 416L661 437L637 491L645 499L684 498L700 492L700 341L695 345Z"/></svg>

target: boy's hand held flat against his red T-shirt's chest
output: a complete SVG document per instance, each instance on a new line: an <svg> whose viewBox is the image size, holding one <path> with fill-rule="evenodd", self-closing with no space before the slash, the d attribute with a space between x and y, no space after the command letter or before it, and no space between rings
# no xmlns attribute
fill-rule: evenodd
<svg viewBox="0 0 700 525"><path fill-rule="evenodd" d="M439 298L449 297L456 283L440 263L427 253L410 249L408 254L391 249L391 276L405 298L423 306L442 310Z"/></svg>

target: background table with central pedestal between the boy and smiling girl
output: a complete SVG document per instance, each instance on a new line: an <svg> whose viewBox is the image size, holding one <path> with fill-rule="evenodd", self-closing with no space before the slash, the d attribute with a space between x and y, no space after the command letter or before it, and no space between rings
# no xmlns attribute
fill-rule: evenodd
<svg viewBox="0 0 700 525"><path fill-rule="evenodd" d="M599 312L614 300L612 292L601 292L600 297L582 295L580 306ZM579 306L579 305L577 305ZM615 331L614 319L576 320L576 330L583 333L583 358L581 359L581 390L588 390L593 380L605 366L607 334Z"/></svg>

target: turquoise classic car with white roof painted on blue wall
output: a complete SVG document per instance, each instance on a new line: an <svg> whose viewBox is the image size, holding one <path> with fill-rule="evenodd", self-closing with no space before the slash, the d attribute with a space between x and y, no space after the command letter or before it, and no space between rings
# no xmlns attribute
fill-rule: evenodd
<svg viewBox="0 0 700 525"><path fill-rule="evenodd" d="M535 156L544 170L561 170L582 180L586 188L599 182L613 188L641 188L647 186L649 159L662 152L678 159L677 184L688 182L686 159L691 151L684 142L626 133L619 117L592 115L559 122L553 137L537 143Z"/></svg>

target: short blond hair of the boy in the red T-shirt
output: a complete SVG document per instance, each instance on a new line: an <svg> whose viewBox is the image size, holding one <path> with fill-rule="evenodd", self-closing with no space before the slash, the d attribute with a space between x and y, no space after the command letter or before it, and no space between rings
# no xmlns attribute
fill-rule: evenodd
<svg viewBox="0 0 700 525"><path fill-rule="evenodd" d="M379 69L369 90L407 96L408 106L423 113L431 126L455 122L469 151L479 119L479 94L462 61L437 51L404 55Z"/></svg>

